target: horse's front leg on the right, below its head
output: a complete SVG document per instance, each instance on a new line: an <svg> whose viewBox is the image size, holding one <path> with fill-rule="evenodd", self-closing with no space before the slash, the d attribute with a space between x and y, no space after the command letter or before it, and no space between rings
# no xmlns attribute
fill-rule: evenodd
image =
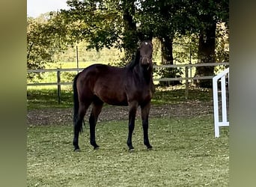
<svg viewBox="0 0 256 187"><path fill-rule="evenodd" d="M144 135L144 145L147 146L147 149L152 149L148 139L148 115L150 112L150 102L147 105L141 106L141 118L142 118L142 127Z"/></svg>

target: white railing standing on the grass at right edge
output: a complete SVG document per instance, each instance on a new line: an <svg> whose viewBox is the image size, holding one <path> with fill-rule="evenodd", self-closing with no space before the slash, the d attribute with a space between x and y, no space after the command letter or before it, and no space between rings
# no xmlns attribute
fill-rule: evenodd
<svg viewBox="0 0 256 187"><path fill-rule="evenodd" d="M219 75L213 77L213 111L214 111L214 129L215 137L219 137L219 127L229 126L228 113L227 113L227 92L226 92L226 76L228 76L228 87L229 87L229 68L224 70ZM221 103L219 106L218 96L218 82L221 82ZM219 108L222 109L222 120L219 117Z"/></svg>

